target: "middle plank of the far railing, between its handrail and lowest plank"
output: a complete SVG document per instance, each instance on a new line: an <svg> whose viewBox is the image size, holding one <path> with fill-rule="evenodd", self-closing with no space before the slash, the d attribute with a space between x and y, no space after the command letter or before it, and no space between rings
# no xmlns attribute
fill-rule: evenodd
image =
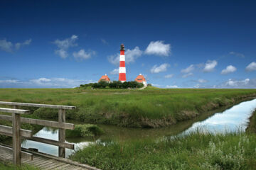
<svg viewBox="0 0 256 170"><path fill-rule="evenodd" d="M0 115L0 119L12 121L12 117L10 115ZM39 120L39 119L32 119L32 118L21 118L21 123L43 125L43 126L48 126L52 128L63 128L63 129L69 129L69 130L74 130L75 128L75 125L72 123L59 123L55 121Z"/></svg>

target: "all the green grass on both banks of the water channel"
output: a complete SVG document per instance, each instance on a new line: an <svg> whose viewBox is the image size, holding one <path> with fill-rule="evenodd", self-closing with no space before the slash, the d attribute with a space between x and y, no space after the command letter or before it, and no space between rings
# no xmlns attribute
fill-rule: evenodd
<svg viewBox="0 0 256 170"><path fill-rule="evenodd" d="M80 124L136 128L173 125L255 96L256 89L0 89L0 101L77 106L66 117ZM58 110L30 109L32 114L26 115L30 118L58 118ZM70 159L100 169L256 169L255 114L247 132L213 135L198 131L161 140L105 140L78 150ZM87 137L102 132L97 125L78 125L67 135ZM15 167L0 164L0 168Z"/></svg>

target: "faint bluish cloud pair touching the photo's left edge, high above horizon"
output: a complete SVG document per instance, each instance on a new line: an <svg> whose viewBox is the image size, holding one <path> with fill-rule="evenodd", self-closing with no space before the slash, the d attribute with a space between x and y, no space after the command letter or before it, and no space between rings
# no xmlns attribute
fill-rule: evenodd
<svg viewBox="0 0 256 170"><path fill-rule="evenodd" d="M16 50L19 50L22 46L30 45L31 39L25 40L24 42L17 42L15 45L11 41L0 40L0 49L4 50L5 52L13 52L14 46Z"/></svg>

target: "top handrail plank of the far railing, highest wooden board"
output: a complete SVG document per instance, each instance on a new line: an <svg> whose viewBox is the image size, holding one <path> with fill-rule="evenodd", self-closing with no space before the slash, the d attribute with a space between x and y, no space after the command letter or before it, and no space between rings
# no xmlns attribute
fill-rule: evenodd
<svg viewBox="0 0 256 170"><path fill-rule="evenodd" d="M36 103L17 103L17 102L7 102L0 101L0 105L10 105L10 106L31 106L38 108L59 108L59 109L75 109L75 106L62 106L62 105L48 105L48 104L36 104Z"/></svg>

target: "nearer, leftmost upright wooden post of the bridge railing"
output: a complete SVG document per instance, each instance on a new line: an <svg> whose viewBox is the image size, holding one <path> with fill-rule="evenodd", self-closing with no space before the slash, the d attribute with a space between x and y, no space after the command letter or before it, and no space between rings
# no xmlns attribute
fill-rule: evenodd
<svg viewBox="0 0 256 170"><path fill-rule="evenodd" d="M13 106L16 108L16 106ZM12 128L13 128L13 161L15 165L21 165L21 115L12 113Z"/></svg>

